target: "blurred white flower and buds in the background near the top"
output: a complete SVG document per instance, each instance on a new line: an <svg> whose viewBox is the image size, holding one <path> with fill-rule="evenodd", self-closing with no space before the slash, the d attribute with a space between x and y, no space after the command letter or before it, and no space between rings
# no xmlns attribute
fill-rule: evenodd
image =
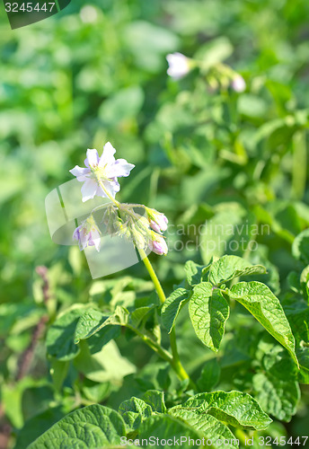
<svg viewBox="0 0 309 449"><path fill-rule="evenodd" d="M211 90L215 91L219 87L224 89L231 87L234 92L243 92L246 88L243 76L225 64L216 63L214 66L204 66L203 61L191 59L181 53L171 53L166 56L166 59L169 65L167 74L175 80L188 75L194 67L199 67L206 75L206 81Z"/></svg>

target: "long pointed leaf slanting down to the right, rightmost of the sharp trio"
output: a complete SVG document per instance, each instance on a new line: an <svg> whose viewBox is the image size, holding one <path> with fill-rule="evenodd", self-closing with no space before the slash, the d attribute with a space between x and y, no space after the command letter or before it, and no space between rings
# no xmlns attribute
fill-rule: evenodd
<svg viewBox="0 0 309 449"><path fill-rule="evenodd" d="M229 295L243 304L269 334L287 348L298 365L292 330L278 298L269 287L255 281L240 282L232 286Z"/></svg>

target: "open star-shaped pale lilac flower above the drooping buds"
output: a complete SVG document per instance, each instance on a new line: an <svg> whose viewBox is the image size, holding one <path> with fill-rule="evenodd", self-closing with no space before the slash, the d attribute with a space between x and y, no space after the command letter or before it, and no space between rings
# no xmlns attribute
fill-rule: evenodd
<svg viewBox="0 0 309 449"><path fill-rule="evenodd" d="M107 142L104 145L102 156L99 157L97 150L87 150L87 157L84 160L86 168L75 165L70 172L76 176L80 182L84 182L82 187L83 201L92 199L95 195L102 198L115 198L120 186L117 178L128 176L135 167L133 163L128 163L125 159L115 160L116 150Z"/></svg>

